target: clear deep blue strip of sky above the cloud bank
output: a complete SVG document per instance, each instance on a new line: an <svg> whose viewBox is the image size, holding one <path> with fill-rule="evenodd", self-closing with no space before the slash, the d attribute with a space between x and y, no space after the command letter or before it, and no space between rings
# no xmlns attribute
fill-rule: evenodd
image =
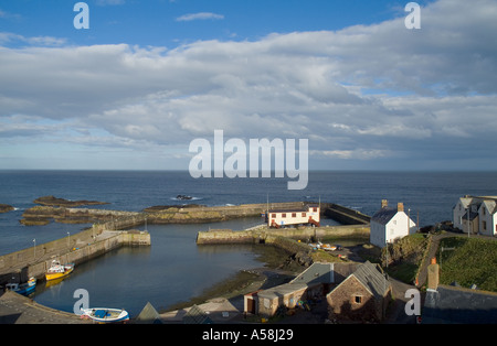
<svg viewBox="0 0 497 346"><path fill-rule="evenodd" d="M94 0L91 30L72 26L77 1L17 0L1 4L2 28L25 36L65 37L73 44L175 46L198 40L257 40L269 33L340 30L404 15L392 0ZM425 1L419 1L423 4ZM205 19L181 20L210 13ZM193 17L195 18L195 17Z"/></svg>

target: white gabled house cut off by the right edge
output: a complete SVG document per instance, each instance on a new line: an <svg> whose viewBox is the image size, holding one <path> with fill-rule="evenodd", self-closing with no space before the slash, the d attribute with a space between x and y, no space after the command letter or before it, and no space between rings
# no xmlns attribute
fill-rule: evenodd
<svg viewBox="0 0 497 346"><path fill-rule="evenodd" d="M497 236L497 196L464 196L453 208L454 227L464 233Z"/></svg>

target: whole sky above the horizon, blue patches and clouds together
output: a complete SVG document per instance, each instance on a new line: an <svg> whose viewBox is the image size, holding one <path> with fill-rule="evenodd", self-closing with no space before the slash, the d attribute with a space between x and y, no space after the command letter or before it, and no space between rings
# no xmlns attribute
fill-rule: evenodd
<svg viewBox="0 0 497 346"><path fill-rule="evenodd" d="M194 139L309 170L497 170L497 2L0 0L0 170L188 170Z"/></svg>

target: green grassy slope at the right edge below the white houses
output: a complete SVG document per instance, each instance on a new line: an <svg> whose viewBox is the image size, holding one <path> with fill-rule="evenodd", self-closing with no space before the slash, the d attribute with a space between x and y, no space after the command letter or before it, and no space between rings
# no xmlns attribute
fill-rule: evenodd
<svg viewBox="0 0 497 346"><path fill-rule="evenodd" d="M454 248L443 251L441 248ZM437 262L440 281L456 281L464 288L476 284L479 289L497 292L497 241L485 238L453 237L441 240Z"/></svg>

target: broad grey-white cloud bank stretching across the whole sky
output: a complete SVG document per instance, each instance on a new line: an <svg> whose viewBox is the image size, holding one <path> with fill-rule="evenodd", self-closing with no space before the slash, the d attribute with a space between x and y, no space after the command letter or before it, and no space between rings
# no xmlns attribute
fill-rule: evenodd
<svg viewBox="0 0 497 346"><path fill-rule="evenodd" d="M308 138L315 166L491 158L497 4L482 2L434 2L419 31L399 18L172 50L45 46L3 33L2 44L31 46L0 47L0 143L163 149L184 163L191 140L222 129L226 139Z"/></svg>

